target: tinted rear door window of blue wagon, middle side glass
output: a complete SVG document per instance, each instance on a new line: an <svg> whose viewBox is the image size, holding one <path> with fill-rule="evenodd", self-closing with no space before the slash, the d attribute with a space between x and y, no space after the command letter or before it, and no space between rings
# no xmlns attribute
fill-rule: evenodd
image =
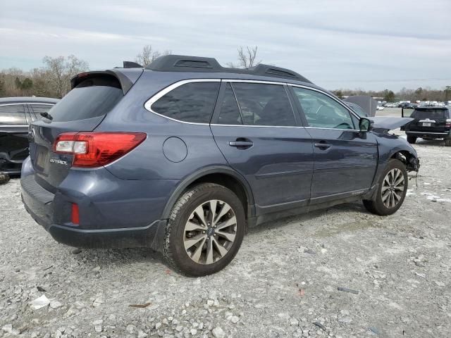
<svg viewBox="0 0 451 338"><path fill-rule="evenodd" d="M296 126L295 114L281 84L233 82L243 125ZM240 124L239 121L235 124Z"/></svg>

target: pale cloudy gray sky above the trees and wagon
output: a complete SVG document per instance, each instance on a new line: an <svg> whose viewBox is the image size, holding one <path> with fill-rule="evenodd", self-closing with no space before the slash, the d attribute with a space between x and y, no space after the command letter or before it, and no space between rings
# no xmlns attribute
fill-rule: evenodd
<svg viewBox="0 0 451 338"><path fill-rule="evenodd" d="M145 44L225 65L237 47L327 89L451 85L451 0L1 0L0 69L74 54L90 69Z"/></svg>

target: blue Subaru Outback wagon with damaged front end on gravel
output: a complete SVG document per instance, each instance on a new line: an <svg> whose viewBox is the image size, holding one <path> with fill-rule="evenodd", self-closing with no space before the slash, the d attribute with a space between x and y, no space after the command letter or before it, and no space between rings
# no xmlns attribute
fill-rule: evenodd
<svg viewBox="0 0 451 338"><path fill-rule="evenodd" d="M162 56L81 73L30 126L25 208L56 241L224 268L247 227L349 201L395 213L415 150L292 70Z"/></svg>

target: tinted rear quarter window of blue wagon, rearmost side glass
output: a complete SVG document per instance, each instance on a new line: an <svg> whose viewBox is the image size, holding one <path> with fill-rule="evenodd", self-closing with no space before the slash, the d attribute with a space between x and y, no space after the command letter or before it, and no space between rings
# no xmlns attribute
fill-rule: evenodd
<svg viewBox="0 0 451 338"><path fill-rule="evenodd" d="M167 118L190 123L209 123L220 82L190 82L161 96L150 107Z"/></svg>

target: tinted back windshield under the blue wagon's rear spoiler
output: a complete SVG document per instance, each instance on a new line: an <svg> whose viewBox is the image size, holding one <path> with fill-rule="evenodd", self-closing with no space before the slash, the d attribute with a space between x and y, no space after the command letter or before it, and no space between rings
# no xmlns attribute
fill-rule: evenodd
<svg viewBox="0 0 451 338"><path fill-rule="evenodd" d="M64 96L49 114L55 122L96 118L111 111L122 97L121 84L116 77L91 77Z"/></svg>

